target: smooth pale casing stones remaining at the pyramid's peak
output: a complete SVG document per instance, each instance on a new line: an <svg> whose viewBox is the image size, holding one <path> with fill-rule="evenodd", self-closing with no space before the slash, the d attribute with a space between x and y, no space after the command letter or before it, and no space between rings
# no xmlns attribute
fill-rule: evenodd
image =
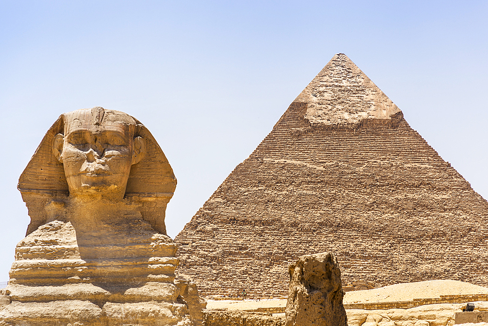
<svg viewBox="0 0 488 326"><path fill-rule="evenodd" d="M391 119L401 112L344 53L335 54L294 102L307 105L305 118L313 125Z"/></svg>

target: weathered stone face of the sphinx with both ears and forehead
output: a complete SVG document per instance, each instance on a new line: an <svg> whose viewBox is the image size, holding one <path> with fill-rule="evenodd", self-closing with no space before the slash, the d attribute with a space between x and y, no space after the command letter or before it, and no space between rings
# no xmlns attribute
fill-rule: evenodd
<svg viewBox="0 0 488 326"><path fill-rule="evenodd" d="M63 164L70 196L122 199L131 165L141 161L146 142L134 136L136 121L100 107L63 114L64 133L52 150Z"/></svg>

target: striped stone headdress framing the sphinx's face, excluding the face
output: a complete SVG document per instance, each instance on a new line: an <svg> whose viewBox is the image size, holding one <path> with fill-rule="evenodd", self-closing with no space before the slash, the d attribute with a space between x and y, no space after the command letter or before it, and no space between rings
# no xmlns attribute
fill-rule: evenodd
<svg viewBox="0 0 488 326"><path fill-rule="evenodd" d="M17 188L31 217L26 234L46 223L47 204L69 196L63 165L52 151L55 136L59 133L65 135L73 127L90 129L93 126L98 129L121 129L130 137L142 137L145 140L145 155L130 169L125 198L140 203L142 217L156 231L166 234L166 205L177 183L173 169L153 135L139 120L121 111L101 107L61 114L47 130L27 167L20 174Z"/></svg>

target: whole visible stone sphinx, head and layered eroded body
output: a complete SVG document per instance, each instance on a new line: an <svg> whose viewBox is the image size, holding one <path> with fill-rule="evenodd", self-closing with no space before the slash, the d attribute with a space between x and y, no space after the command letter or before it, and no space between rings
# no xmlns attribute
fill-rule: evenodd
<svg viewBox="0 0 488 326"><path fill-rule="evenodd" d="M100 107L62 114L20 175L31 222L0 325L193 325L164 224L175 188L134 117Z"/></svg>

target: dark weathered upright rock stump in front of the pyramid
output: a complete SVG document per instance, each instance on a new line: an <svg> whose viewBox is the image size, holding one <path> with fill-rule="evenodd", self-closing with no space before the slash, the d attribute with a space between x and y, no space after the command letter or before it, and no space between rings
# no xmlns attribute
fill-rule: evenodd
<svg viewBox="0 0 488 326"><path fill-rule="evenodd" d="M341 271L330 253L302 256L289 267L286 326L346 326Z"/></svg>

